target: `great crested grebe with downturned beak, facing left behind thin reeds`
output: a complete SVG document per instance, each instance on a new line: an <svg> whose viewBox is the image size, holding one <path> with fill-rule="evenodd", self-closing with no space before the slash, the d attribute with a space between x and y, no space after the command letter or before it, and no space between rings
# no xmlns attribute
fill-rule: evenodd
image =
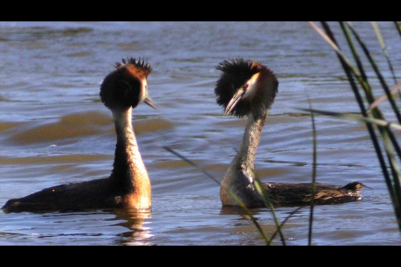
<svg viewBox="0 0 401 267"><path fill-rule="evenodd" d="M253 163L267 114L278 91L274 73L258 62L231 59L221 62L215 94L224 114L248 116L241 146L225 173L220 189L223 206L239 206L234 193L248 207L263 206L255 189ZM275 205L310 204L312 183L263 183ZM359 190L365 185L352 182L341 187L316 183L315 204L336 204L361 200Z"/></svg>

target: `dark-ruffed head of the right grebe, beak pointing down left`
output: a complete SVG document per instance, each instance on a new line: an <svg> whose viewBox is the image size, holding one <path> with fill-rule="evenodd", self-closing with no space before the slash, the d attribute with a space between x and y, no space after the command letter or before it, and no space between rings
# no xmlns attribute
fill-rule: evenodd
<svg viewBox="0 0 401 267"><path fill-rule="evenodd" d="M278 90L277 78L269 68L242 58L225 60L216 68L223 71L215 94L225 115L252 113L257 118L269 111Z"/></svg>

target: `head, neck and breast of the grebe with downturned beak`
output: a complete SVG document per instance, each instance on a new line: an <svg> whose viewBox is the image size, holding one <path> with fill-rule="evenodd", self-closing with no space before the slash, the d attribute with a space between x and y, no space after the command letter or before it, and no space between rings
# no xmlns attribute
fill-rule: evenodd
<svg viewBox="0 0 401 267"><path fill-rule="evenodd" d="M255 190L254 161L267 113L277 93L277 78L260 63L231 59L221 62L215 94L224 114L248 116L247 125L237 154L221 182L220 197L223 205L238 205L229 191L246 205L259 201Z"/></svg>

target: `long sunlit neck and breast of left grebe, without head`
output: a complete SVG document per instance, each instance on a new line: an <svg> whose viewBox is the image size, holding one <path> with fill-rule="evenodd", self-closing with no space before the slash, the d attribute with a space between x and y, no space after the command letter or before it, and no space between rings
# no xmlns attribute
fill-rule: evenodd
<svg viewBox="0 0 401 267"><path fill-rule="evenodd" d="M131 122L132 108L124 111L113 111L117 145L111 179L123 194L148 195L150 197L150 181L148 172L139 153L138 144Z"/></svg>

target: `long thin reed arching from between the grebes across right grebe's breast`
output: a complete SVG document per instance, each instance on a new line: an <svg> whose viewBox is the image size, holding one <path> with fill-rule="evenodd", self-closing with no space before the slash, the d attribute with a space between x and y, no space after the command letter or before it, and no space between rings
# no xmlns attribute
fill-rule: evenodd
<svg viewBox="0 0 401 267"><path fill-rule="evenodd" d="M188 163L189 165L195 167L196 169L200 170L202 173L204 173L207 177L209 177L210 179L212 179L213 181L215 181L217 184L219 184L221 186L221 183L212 175L210 175L205 169L203 169L202 167L198 166L196 163L194 163L193 161L191 161L190 159L187 159L186 157L182 156L181 154L179 154L178 152L170 149L169 147L163 147L164 149L166 149L168 152L176 155L177 157L179 157L180 159L182 159L183 161L185 161L186 163ZM251 218L251 221L255 224L257 230L259 231L259 233L261 234L261 236L263 237L263 239L265 239L266 245L270 245L271 244L271 239L269 239L269 237L267 237L267 235L265 234L265 232L263 232L262 228L260 227L259 223L257 222L257 220L255 219L255 217L253 217L251 211L247 208L247 206L245 206L245 204L231 191L229 191L227 188L226 190L231 194L231 196L233 197L233 199L235 199L235 201L237 201L237 203L242 207L242 209L249 215L249 217ZM279 231L281 231L281 227L278 224L277 225L277 229ZM284 242L284 237L283 237L283 245L285 245Z"/></svg>

